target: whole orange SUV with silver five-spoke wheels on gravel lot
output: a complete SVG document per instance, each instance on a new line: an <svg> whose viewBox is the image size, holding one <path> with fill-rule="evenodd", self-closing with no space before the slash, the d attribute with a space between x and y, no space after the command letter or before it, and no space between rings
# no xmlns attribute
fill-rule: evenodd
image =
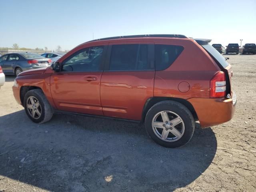
<svg viewBox="0 0 256 192"><path fill-rule="evenodd" d="M205 128L234 114L231 66L209 42L183 35L92 40L50 67L20 73L14 97L36 123L56 111L132 120L156 143L179 147L195 121Z"/></svg>

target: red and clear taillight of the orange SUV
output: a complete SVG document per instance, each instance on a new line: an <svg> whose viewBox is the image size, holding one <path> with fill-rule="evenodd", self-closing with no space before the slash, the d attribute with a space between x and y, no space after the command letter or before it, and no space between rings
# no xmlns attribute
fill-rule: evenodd
<svg viewBox="0 0 256 192"><path fill-rule="evenodd" d="M226 95L226 78L223 71L219 71L210 82L210 97L222 98Z"/></svg>

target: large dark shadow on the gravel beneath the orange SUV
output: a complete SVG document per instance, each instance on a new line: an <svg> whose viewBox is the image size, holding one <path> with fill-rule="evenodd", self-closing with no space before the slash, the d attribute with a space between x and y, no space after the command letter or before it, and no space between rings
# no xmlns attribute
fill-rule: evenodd
<svg viewBox="0 0 256 192"><path fill-rule="evenodd" d="M117 120L56 114L35 124L21 110L0 125L0 154L18 147L0 155L0 175L55 192L173 191L196 180L217 148L211 128L196 128L186 146L170 149L144 127Z"/></svg>

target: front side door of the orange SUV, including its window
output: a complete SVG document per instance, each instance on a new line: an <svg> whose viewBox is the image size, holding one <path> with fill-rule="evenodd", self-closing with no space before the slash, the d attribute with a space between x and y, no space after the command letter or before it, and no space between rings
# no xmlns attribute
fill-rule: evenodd
<svg viewBox="0 0 256 192"><path fill-rule="evenodd" d="M53 72L50 88L58 110L103 115L100 80L107 46L91 46L64 58L60 72Z"/></svg>

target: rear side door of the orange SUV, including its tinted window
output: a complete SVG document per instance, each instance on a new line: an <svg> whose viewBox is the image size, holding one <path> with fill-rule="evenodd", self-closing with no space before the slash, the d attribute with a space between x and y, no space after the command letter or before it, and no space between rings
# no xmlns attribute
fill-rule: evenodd
<svg viewBox="0 0 256 192"><path fill-rule="evenodd" d="M100 83L105 116L141 120L154 92L154 42L110 42Z"/></svg>

